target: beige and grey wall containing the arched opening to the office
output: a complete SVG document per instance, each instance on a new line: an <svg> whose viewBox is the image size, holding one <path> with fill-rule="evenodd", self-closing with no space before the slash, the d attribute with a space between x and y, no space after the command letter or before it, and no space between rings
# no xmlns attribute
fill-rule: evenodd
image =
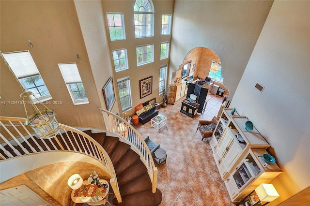
<svg viewBox="0 0 310 206"><path fill-rule="evenodd" d="M223 83L232 98L272 3L271 0L176 0L169 77L191 49L206 47L220 58Z"/></svg>

